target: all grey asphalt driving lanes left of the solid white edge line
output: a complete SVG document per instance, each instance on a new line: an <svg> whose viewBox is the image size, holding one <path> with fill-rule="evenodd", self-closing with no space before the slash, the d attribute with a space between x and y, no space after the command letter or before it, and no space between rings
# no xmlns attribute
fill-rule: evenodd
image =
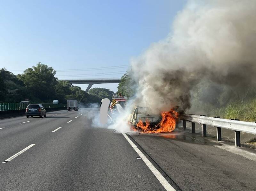
<svg viewBox="0 0 256 191"><path fill-rule="evenodd" d="M92 128L86 111L62 115L0 131L1 161L35 144L0 164L0 190L164 190L122 134Z"/></svg>

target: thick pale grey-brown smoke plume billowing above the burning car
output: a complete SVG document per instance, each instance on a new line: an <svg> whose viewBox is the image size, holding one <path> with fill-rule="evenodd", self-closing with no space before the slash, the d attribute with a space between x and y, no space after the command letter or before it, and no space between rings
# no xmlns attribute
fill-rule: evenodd
<svg viewBox="0 0 256 191"><path fill-rule="evenodd" d="M168 37L132 61L136 103L153 113L190 107L201 80L236 88L255 84L256 1L188 1Z"/></svg>

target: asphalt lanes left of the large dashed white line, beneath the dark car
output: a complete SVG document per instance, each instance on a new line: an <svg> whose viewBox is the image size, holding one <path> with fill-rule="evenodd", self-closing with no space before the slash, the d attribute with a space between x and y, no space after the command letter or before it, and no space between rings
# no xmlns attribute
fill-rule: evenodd
<svg viewBox="0 0 256 191"><path fill-rule="evenodd" d="M16 150L22 150L31 141L47 135L49 131L53 131L54 128L60 124L67 123L72 115L75 115L64 112L67 111L64 110L63 112L58 112L61 116L52 116L53 114L56 114L56 112L47 113L47 117L42 119L39 117L26 118L23 116L3 120L5 122L0 123L1 128L5 128L0 129L0 161L4 160L6 154L11 155ZM30 122L23 123L26 121Z"/></svg>

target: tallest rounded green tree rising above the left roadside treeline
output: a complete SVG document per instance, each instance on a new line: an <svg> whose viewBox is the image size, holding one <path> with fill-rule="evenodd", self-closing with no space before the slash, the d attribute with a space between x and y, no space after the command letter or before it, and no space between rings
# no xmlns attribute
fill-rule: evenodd
<svg viewBox="0 0 256 191"><path fill-rule="evenodd" d="M18 75L29 91L38 101L51 102L56 98L55 85L57 78L54 77L56 71L41 62L37 66L28 68L24 74Z"/></svg>

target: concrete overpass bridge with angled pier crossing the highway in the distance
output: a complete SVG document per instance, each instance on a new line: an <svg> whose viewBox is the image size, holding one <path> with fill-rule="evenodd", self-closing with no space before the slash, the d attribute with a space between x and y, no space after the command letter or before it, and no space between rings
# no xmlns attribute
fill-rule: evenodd
<svg viewBox="0 0 256 191"><path fill-rule="evenodd" d="M113 84L120 83L121 78L98 78L98 79L61 79L59 81L68 81L71 84L88 84L85 92L87 93L93 84Z"/></svg>

